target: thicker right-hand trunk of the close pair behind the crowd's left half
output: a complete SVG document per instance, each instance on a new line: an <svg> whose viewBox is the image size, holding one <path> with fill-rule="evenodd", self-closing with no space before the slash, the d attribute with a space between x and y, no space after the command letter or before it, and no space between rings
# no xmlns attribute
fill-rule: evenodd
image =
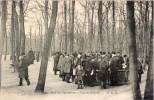
<svg viewBox="0 0 154 100"><path fill-rule="evenodd" d="M71 30L70 30L70 53L73 53L73 51L74 51L74 11L75 11L75 0L72 0Z"/></svg>

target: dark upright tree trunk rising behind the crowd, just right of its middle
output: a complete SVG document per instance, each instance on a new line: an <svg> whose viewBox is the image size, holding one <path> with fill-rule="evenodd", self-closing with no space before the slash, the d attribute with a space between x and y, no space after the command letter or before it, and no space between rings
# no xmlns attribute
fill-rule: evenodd
<svg viewBox="0 0 154 100"><path fill-rule="evenodd" d="M99 1L98 5L98 22L99 22L99 37L100 37L100 44L101 50L103 50L103 35L102 35L102 1Z"/></svg>

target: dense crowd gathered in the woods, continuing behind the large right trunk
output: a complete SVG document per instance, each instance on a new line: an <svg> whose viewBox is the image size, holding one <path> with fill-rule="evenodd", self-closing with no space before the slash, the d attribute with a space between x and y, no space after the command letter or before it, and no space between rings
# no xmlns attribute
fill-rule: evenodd
<svg viewBox="0 0 154 100"><path fill-rule="evenodd" d="M137 61L138 81L143 74L142 64ZM129 58L120 52L73 53L56 52L54 54L54 74L62 81L85 86L100 85L106 89L110 85L128 83ZM123 82L123 83L122 83Z"/></svg>

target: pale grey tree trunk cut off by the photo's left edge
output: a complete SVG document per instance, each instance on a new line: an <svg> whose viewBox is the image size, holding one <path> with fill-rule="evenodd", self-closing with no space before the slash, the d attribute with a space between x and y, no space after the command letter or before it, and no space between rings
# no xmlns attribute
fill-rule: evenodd
<svg viewBox="0 0 154 100"><path fill-rule="evenodd" d="M7 12L7 1L0 1L1 3L1 25L0 25L0 88L1 88L1 60L2 60L2 54L3 54L3 47L4 47L4 38L6 34L6 12Z"/></svg>

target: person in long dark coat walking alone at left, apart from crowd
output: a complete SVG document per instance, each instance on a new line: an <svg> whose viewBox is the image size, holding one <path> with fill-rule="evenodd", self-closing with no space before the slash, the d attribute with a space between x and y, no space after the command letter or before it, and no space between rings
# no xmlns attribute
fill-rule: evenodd
<svg viewBox="0 0 154 100"><path fill-rule="evenodd" d="M19 68L18 68L18 72L19 72L19 86L23 85L23 79L26 80L27 85L30 85L30 81L28 78L28 59L27 56L22 53L22 55L20 56L20 62L19 62Z"/></svg>

